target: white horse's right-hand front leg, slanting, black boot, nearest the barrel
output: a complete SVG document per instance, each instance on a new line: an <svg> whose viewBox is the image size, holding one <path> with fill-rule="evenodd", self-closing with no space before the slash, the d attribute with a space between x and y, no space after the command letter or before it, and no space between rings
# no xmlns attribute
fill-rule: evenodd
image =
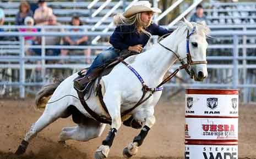
<svg viewBox="0 0 256 159"><path fill-rule="evenodd" d="M143 128L141 128L139 135L133 139L132 143L130 143L126 148L124 148L123 156L125 158L130 158L137 154L138 147L143 143L143 140L148 134L150 128L154 126L155 121L156 120L154 115L146 117L145 125Z"/></svg>

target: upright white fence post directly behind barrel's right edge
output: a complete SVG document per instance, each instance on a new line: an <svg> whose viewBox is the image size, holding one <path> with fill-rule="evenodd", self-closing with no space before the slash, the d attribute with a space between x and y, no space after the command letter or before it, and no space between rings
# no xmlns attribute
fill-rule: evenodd
<svg viewBox="0 0 256 159"><path fill-rule="evenodd" d="M238 36L233 36L233 89L238 85Z"/></svg>

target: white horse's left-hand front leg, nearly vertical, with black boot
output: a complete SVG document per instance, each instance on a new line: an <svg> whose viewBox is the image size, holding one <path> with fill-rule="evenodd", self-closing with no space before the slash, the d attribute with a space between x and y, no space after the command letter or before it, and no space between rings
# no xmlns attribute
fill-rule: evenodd
<svg viewBox="0 0 256 159"><path fill-rule="evenodd" d="M120 96L119 93L106 92L104 96L104 103L110 113L112 124L110 131L102 145L96 150L94 157L96 159L106 158L113 144L117 130L121 127L121 113L120 113Z"/></svg>

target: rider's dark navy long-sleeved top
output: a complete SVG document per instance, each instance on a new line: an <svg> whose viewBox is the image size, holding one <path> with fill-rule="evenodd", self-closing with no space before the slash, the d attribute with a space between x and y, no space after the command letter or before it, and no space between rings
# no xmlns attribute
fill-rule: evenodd
<svg viewBox="0 0 256 159"><path fill-rule="evenodd" d="M145 29L150 32L151 35L163 36L171 31L164 29L154 23ZM119 25L110 37L110 43L116 49L124 50L129 46L135 46L141 44L145 47L149 41L149 36L145 33L138 33L135 25Z"/></svg>

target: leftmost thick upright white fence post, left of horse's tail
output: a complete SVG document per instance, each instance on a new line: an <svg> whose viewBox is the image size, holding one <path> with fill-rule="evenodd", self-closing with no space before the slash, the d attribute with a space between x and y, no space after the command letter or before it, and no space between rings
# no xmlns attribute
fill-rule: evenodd
<svg viewBox="0 0 256 159"><path fill-rule="evenodd" d="M19 87L20 87L20 98L25 98L25 39L24 36L19 36L20 39L20 78L19 78Z"/></svg>

